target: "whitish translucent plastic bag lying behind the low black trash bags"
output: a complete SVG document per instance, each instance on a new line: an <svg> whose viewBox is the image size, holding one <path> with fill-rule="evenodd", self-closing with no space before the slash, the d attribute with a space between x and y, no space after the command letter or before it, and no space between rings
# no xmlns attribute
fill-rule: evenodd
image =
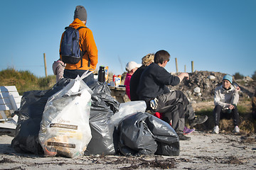
<svg viewBox="0 0 256 170"><path fill-rule="evenodd" d="M127 115L133 113L145 112L146 102L145 101L129 101L126 103L120 103L119 111L114 113L111 117L110 123L113 123L115 127L118 127L119 122Z"/></svg>

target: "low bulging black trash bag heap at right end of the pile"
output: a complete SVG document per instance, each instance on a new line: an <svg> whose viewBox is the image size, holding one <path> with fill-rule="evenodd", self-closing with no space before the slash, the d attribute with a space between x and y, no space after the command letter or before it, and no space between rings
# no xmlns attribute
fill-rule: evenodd
<svg viewBox="0 0 256 170"><path fill-rule="evenodd" d="M149 113L135 113L118 127L118 149L125 156L141 154L179 155L178 135L171 126Z"/></svg>

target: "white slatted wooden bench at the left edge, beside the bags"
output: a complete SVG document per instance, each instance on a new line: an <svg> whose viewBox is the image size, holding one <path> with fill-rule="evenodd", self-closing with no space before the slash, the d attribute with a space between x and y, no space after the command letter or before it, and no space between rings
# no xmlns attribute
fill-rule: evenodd
<svg viewBox="0 0 256 170"><path fill-rule="evenodd" d="M0 128L16 128L18 115L12 117L8 113L12 114L18 110L21 105L21 97L16 86L0 86Z"/></svg>

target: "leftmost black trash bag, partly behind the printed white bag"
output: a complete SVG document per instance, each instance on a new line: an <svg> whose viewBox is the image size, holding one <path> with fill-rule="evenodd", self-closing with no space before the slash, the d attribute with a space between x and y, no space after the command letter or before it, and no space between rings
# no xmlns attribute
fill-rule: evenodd
<svg viewBox="0 0 256 170"><path fill-rule="evenodd" d="M16 152L43 154L38 140L42 115L48 98L68 84L69 79L61 79L52 89L46 91L26 91L21 98L21 106L15 113L18 123L11 147Z"/></svg>

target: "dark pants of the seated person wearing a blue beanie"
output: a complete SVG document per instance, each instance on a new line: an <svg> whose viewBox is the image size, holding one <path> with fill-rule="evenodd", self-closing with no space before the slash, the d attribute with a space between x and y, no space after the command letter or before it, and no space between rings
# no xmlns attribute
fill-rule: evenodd
<svg viewBox="0 0 256 170"><path fill-rule="evenodd" d="M216 105L213 110L213 118L215 121L215 125L219 125L220 119L226 118L230 119L233 118L234 125L239 124L239 113L238 108L235 107L232 109L231 113L228 113L228 111L222 111L222 107L220 105Z"/></svg>

